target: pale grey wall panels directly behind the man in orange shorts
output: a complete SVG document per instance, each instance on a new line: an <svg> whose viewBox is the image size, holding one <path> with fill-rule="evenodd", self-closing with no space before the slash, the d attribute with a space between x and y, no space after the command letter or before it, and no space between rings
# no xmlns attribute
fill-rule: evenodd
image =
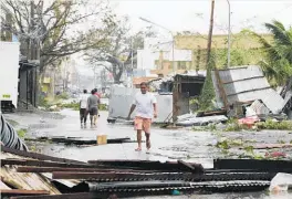
<svg viewBox="0 0 292 199"><path fill-rule="evenodd" d="M111 88L109 102L108 102L108 116L126 118L129 108L133 104L135 94L139 92L136 88L113 86ZM163 123L167 116L173 113L173 95L159 95L155 94L157 100L158 116L154 122ZM135 116L135 112L132 117ZM171 116L171 114L170 114Z"/></svg>

